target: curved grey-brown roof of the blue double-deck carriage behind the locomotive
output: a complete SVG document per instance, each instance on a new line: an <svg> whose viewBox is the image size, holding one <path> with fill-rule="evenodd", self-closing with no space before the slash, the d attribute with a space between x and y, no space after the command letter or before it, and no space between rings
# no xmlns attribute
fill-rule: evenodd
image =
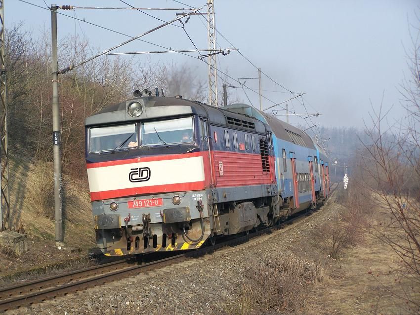
<svg viewBox="0 0 420 315"><path fill-rule="evenodd" d="M292 142L297 145L305 146L311 149L315 149L314 141L311 137L304 131L299 128L294 127L291 124L288 124L272 115L268 115L265 112L258 110L248 104L230 104L224 106L223 109L226 109L231 112L238 114L247 115L249 117L254 117L266 124L268 124L273 130L274 135L282 140Z"/></svg>

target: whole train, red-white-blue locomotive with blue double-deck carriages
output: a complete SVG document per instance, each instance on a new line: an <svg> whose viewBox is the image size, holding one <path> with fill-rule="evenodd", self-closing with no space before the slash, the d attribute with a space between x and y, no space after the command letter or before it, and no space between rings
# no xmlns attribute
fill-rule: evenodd
<svg viewBox="0 0 420 315"><path fill-rule="evenodd" d="M85 120L96 243L105 255L214 244L328 196L328 157L298 128L245 104L135 96Z"/></svg>

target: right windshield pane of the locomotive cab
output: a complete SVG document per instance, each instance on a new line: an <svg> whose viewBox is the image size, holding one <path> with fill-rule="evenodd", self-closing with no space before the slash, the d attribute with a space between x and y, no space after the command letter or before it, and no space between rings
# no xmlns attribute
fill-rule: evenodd
<svg viewBox="0 0 420 315"><path fill-rule="evenodd" d="M194 141L193 117L141 123L141 145L168 145Z"/></svg>

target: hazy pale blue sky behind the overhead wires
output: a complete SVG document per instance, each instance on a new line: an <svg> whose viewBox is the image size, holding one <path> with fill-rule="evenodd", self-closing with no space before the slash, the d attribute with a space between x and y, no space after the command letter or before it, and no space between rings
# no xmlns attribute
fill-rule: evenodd
<svg viewBox="0 0 420 315"><path fill-rule="evenodd" d="M45 7L43 0L28 0ZM126 0L125 0L126 1ZM140 7L185 7L173 0L134 1L127 3ZM205 6L206 1L181 0L190 6ZM419 27L419 1L416 0L214 0L216 28L236 48L276 82L294 92L304 92L303 101L309 113L322 115L312 118L324 126L363 126L371 110L380 105L382 94L385 107L394 105L392 119L405 115L400 106L398 86L404 75L409 76L404 47L410 50L409 23ZM48 3L48 2L47 2ZM50 4L50 3L48 3ZM127 5L119 0L67 1L57 5L119 6ZM86 21L105 26L127 35L140 35L161 21L132 10L83 10L62 11ZM165 21L175 17L177 11L145 11ZM6 28L23 21L25 28L38 30L50 28L50 12L18 0L6 1ZM184 19L185 21L185 19ZM176 22L176 25L181 25ZM127 37L58 16L59 37L69 34L86 36L91 44L101 50L110 48ZM193 16L185 30L198 48L207 48L207 24L204 18ZM411 29L412 32L413 28ZM414 36L417 34L414 32ZM172 49L194 49L182 28L167 26L143 37L153 43ZM217 44L232 47L217 34ZM156 46L134 41L118 49L126 51L162 50ZM197 53L191 55L197 57ZM197 58L180 54L149 55L153 61L173 60L188 63L207 80L208 66ZM144 60L146 55L135 58ZM217 67L228 71L233 78L257 76L256 69L237 52L217 59ZM59 68L67 65L59 65ZM239 84L233 80L229 83ZM219 82L221 86L221 82ZM257 89L258 80L248 80L249 87ZM141 88L141 87L139 87ZM263 95L275 103L291 97L280 86L262 76ZM278 92L269 92L278 91ZM231 89L233 98L247 101L242 89ZM259 106L256 93L246 90L252 104ZM288 102L296 113L305 113L302 100ZM247 101L248 103L248 101ZM273 105L263 99L263 108ZM280 108L280 107L277 107ZM271 111L269 111L271 112ZM286 119L284 116L281 119ZM291 117L292 123L304 123L299 117Z"/></svg>

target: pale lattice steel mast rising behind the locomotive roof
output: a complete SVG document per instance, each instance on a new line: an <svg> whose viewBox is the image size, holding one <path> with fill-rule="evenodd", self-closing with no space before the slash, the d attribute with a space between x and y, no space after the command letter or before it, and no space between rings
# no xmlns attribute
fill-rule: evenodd
<svg viewBox="0 0 420 315"><path fill-rule="evenodd" d="M214 3L213 0L207 2L207 25L209 31L209 50L215 50L216 48L216 27L214 19ZM218 106L217 99L217 67L216 67L216 55L210 54L208 57L209 63L209 104L211 106Z"/></svg>

